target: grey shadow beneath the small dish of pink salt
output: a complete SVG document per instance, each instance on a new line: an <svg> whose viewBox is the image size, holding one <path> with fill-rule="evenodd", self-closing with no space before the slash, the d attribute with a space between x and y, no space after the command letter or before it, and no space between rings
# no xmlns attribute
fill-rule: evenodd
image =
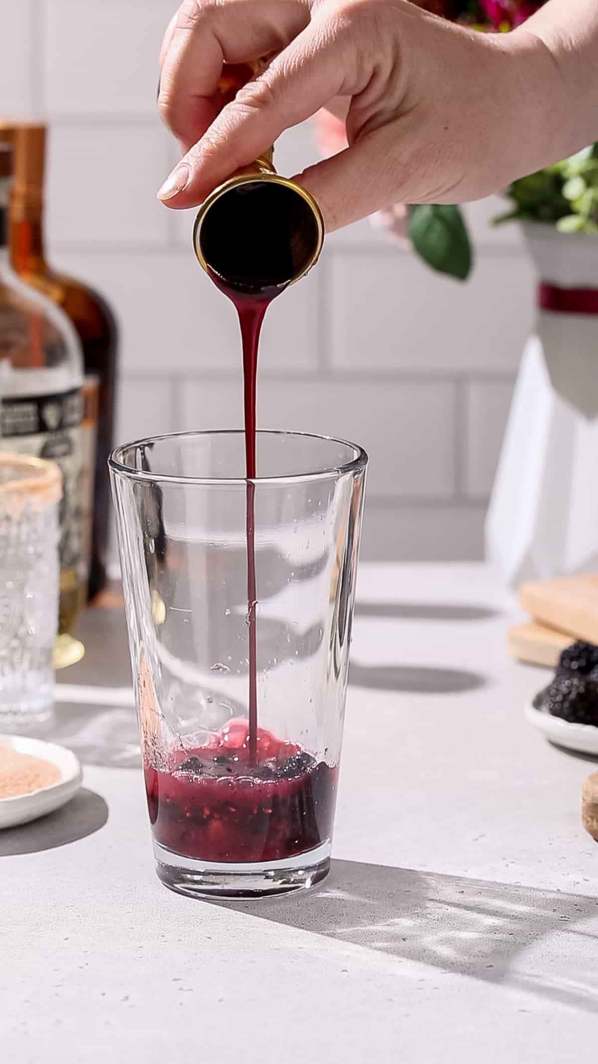
<svg viewBox="0 0 598 1064"><path fill-rule="evenodd" d="M66 805L54 813L30 824L0 831L0 858L39 853L41 850L67 846L92 835L104 827L107 819L108 807L104 799L95 791L82 787Z"/></svg>

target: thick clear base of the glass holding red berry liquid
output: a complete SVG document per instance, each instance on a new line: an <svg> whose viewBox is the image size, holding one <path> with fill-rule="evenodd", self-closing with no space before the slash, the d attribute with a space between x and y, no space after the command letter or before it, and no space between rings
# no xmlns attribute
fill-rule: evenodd
<svg viewBox="0 0 598 1064"><path fill-rule="evenodd" d="M285 861L217 864L183 858L154 841L158 879L189 898L266 898L307 891L330 870L330 843Z"/></svg>

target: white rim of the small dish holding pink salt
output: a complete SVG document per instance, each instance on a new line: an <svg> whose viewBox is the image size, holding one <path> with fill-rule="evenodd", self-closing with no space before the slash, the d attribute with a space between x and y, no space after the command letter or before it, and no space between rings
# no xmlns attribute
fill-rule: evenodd
<svg viewBox="0 0 598 1064"><path fill-rule="evenodd" d="M61 770L61 780L49 787L33 791L29 795L0 798L0 829L14 828L17 824L28 824L38 816L53 813L64 805L81 786L81 765L71 750L55 743L45 743L40 738L24 735L0 735L0 746L10 746L19 753L30 753L33 758L50 761Z"/></svg>

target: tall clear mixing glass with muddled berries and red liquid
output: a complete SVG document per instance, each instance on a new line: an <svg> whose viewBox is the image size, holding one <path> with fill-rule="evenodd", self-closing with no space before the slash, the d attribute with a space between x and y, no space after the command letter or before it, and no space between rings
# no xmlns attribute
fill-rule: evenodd
<svg viewBox="0 0 598 1064"><path fill-rule="evenodd" d="M242 432L112 455L154 853L175 891L283 893L328 871L366 464L277 432L257 433L254 481Z"/></svg>

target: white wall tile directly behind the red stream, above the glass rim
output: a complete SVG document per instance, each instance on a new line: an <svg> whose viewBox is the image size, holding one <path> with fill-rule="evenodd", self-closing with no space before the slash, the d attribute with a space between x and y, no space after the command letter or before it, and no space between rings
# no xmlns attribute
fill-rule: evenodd
<svg viewBox="0 0 598 1064"><path fill-rule="evenodd" d="M178 252L66 253L55 256L115 306L124 373L235 375L241 346L233 304L209 281L191 249ZM319 281L313 271L269 309L260 344L262 372L312 372L318 358Z"/></svg>

